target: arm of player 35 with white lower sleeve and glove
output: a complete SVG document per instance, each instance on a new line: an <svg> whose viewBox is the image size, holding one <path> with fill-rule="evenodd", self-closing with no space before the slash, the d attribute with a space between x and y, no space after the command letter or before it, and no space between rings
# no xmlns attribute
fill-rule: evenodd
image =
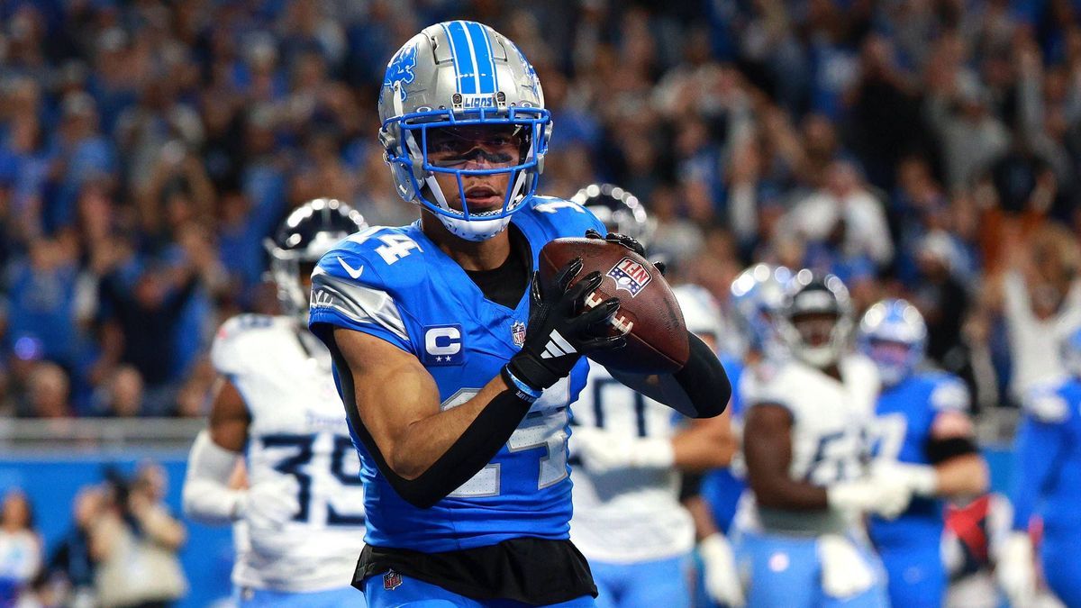
<svg viewBox="0 0 1081 608"><path fill-rule="evenodd" d="M228 524L243 512L244 491L229 485L241 463L251 418L229 380L217 382L206 428L199 432L184 479L184 514L204 524Z"/></svg>

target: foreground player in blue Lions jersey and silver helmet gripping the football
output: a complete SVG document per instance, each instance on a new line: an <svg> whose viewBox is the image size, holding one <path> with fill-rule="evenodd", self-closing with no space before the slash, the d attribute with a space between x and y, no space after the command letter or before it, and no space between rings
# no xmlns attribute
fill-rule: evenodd
<svg viewBox="0 0 1081 608"><path fill-rule="evenodd" d="M362 462L368 544L355 584L376 607L591 606L589 567L569 540L569 407L585 385L582 355L625 339L606 336L617 300L585 304L600 273L569 287L580 261L550 282L534 269L551 239L604 226L534 196L550 115L533 67L492 28L425 28L383 84L379 140L421 219L331 250L311 293L310 327L334 356ZM678 372L618 378L717 415L728 379L689 340Z"/></svg>

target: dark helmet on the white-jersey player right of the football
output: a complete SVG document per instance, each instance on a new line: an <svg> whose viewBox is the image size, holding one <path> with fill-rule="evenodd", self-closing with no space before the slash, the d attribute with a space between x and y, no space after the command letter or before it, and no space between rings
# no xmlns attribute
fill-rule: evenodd
<svg viewBox="0 0 1081 608"><path fill-rule="evenodd" d="M812 319L810 317L832 317ZM774 315L777 336L793 357L815 368L835 362L852 334L849 289L835 275L804 268L785 287L784 301Z"/></svg>

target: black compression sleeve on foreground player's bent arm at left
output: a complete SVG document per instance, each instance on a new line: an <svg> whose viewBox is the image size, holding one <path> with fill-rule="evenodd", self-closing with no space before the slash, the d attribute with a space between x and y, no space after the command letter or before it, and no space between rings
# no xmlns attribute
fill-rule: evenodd
<svg viewBox="0 0 1081 608"><path fill-rule="evenodd" d="M342 400L350 426L375 459L379 473L387 478L390 487L405 502L419 508L428 508L443 500L446 494L468 481L491 462L530 411L531 404L518 398L515 393L510 391L499 393L484 406L472 424L466 427L465 433L427 471L416 479L406 479L390 468L379 452L379 447L375 445L375 439L364 427L357 411L357 398L349 366L333 340L328 341L328 346L334 358L334 367L342 385Z"/></svg>

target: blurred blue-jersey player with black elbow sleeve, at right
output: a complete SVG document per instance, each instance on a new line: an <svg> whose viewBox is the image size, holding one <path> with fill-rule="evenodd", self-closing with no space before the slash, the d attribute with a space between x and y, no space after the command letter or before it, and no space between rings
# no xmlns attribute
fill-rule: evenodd
<svg viewBox="0 0 1081 608"><path fill-rule="evenodd" d="M859 351L882 381L872 429L876 463L908 477L916 493L896 519L873 517L868 525L893 606L943 604L948 577L940 551L942 499L980 494L989 481L964 383L944 372L917 371L926 340L923 317L904 300L871 305L859 322Z"/></svg>

